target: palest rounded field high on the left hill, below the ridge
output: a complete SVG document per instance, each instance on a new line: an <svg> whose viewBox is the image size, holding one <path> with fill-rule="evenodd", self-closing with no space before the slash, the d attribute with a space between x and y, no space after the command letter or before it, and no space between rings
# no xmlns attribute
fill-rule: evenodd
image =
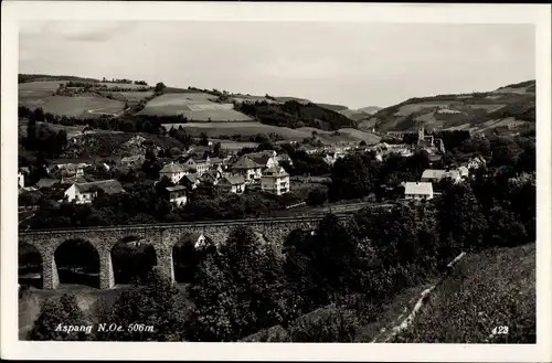
<svg viewBox="0 0 552 363"><path fill-rule="evenodd" d="M217 104L203 93L164 94L146 104L138 115L171 116L182 115L194 121L247 121L251 118L233 109L232 104Z"/></svg>

